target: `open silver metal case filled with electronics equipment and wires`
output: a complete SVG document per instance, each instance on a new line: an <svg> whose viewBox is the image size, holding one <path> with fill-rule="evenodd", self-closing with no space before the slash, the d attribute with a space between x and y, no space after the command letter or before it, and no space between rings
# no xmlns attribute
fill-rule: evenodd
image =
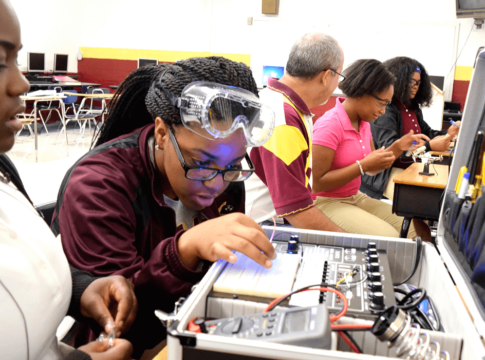
<svg viewBox="0 0 485 360"><path fill-rule="evenodd" d="M478 57L470 83L462 128L455 147L450 178L442 202L436 245L410 239L277 228L274 246L280 248L281 259L284 256L289 257L287 256L290 253L289 246L293 246L294 243L292 236L298 237L302 259L299 261L297 270L292 270L294 268L293 260L285 260L285 266L280 266L279 270L275 270L279 277L274 277L273 282L261 283L263 285L258 282L261 286L255 285L254 288L249 290L244 288L243 291L240 291L240 288L246 286L244 284L248 281L234 277L238 268L222 260L214 263L203 280L194 287L193 292L177 313L168 317L168 359L485 359L483 342L485 289L482 288L485 276L482 277L480 273L482 266L480 254L484 247L479 242L480 240L468 240L476 227L480 229L484 227L485 237L485 211L483 211L483 219L480 217L481 213L477 215L478 211L468 214L469 216L466 216L465 211L473 210L475 203L480 204L478 199L481 196L481 189L476 183L480 180L480 171L485 173L485 165L481 165L484 161L485 141L482 143L478 141L478 133L482 127L485 132L485 52ZM470 160L474 156L473 154L478 155ZM473 165L473 163L479 165ZM468 172L473 172L470 174L469 181L474 189L473 186L470 186L472 196L467 194L465 199L461 199L463 201L458 202L455 186L457 179L463 176L463 166L467 166ZM469 201L468 207L463 205L466 204L466 201ZM456 209L453 208L454 203L459 205ZM481 203L485 208L485 200ZM454 223L454 226L451 226L452 220L462 221L463 224ZM454 231L455 225L458 229L458 237L457 232ZM460 226L462 226L461 234ZM270 237L273 228L263 227L263 229ZM485 244L485 239L483 243ZM467 246L471 245L475 248L482 246L475 262L470 261L470 251L467 251ZM369 251L373 251L372 254ZM377 259L375 263L370 261L371 255L379 257L379 262ZM243 261L242 257L238 257L238 262ZM416 262L417 257L420 257L419 263ZM385 333L376 333L377 336L371 331L349 331L354 343L362 351L360 354L352 352L347 342L337 336L336 331L330 331L330 325L327 324L326 327L323 326L320 329L321 333L325 334L322 335L325 337L325 345L321 347L302 345L304 342L295 345L290 340L284 340L286 338L283 337L281 339L284 341L272 340L271 336L274 334L271 335L270 331L267 333L271 336L266 333L259 335L261 322L266 324L265 321L269 319L262 317L263 311L268 307L268 301L261 296L263 290L266 288L269 294L276 296L282 292L285 293L284 291L288 289L294 290L298 281L300 281L300 285L307 284L302 282L301 274L304 273L305 267L310 268L310 265L307 266L307 264L313 261L311 259L317 258L324 259L323 277L321 277L322 269L318 268L320 265L315 265L318 269L311 268L312 271L307 271L307 274L310 274L308 276L313 276L312 279L321 278L321 281L317 281L317 283L340 283L342 279L346 280L348 271L360 274L360 283L356 281L354 285L352 282L347 284L347 288L344 284L345 281L342 283L342 289L346 289L345 295L350 298L348 310L345 316L335 320L332 326L339 324L342 326L345 324L370 326L374 322L377 323L376 320L383 319L380 309L388 308L392 303L397 302L394 295L390 293L393 292L393 284L407 279L406 284L425 289L427 296L432 299L435 315L440 320L441 331L421 329L419 333L409 333L408 337L416 336L421 340L416 343L419 346L414 344L404 352L402 347L399 348L399 344L394 343L395 339L389 342L383 337L382 334L388 334L387 330ZM483 260L485 275L485 254ZM244 269L244 265L242 265L242 269ZM414 274L412 274L413 270ZM258 274L258 271L262 270L253 269L251 271L251 276L255 276L254 274ZM372 282L370 278L376 272L381 273L377 290L372 289L376 282ZM315 273L318 274L317 277L314 277ZM410 274L412 276L409 278ZM236 288L238 291L232 294L231 291L235 291ZM296 307L303 309L306 305L315 305L315 301L317 304L322 303L323 299L326 309L335 318L335 314L339 313L339 309L342 307L339 305L339 296L317 291L314 293L313 300L308 300L310 297L306 295L305 297L297 296L301 294L292 295L289 300L281 302L279 307L271 309L267 314L270 314L268 316L271 317L273 316L271 312L274 312L275 318L280 319L281 313L276 313L280 310L286 311L288 306L292 309ZM268 297L271 298L271 296ZM375 306L381 307L376 310ZM307 313L310 315L305 315L306 318L301 314L298 315L300 323L301 321L305 324L311 323L308 319L313 319L313 317L309 317L313 316L313 310ZM194 318L229 319L230 329L233 329L236 323L238 331L244 328L244 321L247 319L254 321L251 323L252 327L244 333L233 331L229 336L220 336L216 335L217 332L211 334L211 331L215 330L209 330L207 333L188 331L188 326ZM281 321L278 320L280 321L278 324L281 323L278 325L280 329L278 335L285 333L286 318L289 321L289 312L281 315ZM398 318L399 315L394 318L394 322L388 324L389 329L395 330L393 326L395 327ZM214 326L214 329L228 328L220 327L226 323L218 323L216 326L217 321L207 324ZM255 327L254 324L259 325ZM265 329L268 328L267 324L264 326ZM313 327L318 326L313 324L306 328L308 337L311 336ZM406 335L405 331L402 332L403 338L404 335ZM427 347L426 351L429 350L427 355L416 354L416 352L423 351L425 347ZM446 351L447 354L443 354L442 351Z"/></svg>

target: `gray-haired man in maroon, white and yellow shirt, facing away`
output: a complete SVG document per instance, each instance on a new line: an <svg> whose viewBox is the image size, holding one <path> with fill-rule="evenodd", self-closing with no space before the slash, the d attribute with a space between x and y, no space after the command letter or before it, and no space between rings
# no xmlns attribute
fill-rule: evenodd
<svg viewBox="0 0 485 360"><path fill-rule="evenodd" d="M343 51L334 38L305 34L291 48L283 77L269 79L260 92L261 100L276 113L276 126L266 144L250 150L256 172L245 182L246 213L257 222L277 216L278 222L284 219L296 228L343 232L313 207L310 183L310 109L332 95L343 62Z"/></svg>

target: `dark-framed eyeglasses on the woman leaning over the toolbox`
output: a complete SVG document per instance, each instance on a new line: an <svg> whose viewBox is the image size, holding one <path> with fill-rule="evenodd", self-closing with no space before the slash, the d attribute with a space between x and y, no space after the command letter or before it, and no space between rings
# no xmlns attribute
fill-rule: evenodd
<svg viewBox="0 0 485 360"><path fill-rule="evenodd" d="M242 164L237 165L236 169L225 170L207 168L202 166L189 166L184 160L184 157L182 155L182 152L180 151L180 147L177 143L177 140L175 139L175 135L173 134L172 130L169 129L168 132L170 134L172 144L175 148L175 153L177 154L180 164L185 170L185 177L189 180L206 181L215 178L219 174L222 174L222 178L224 179L224 181L238 182L244 181L249 178L255 170L254 165L251 162L248 154L246 154L246 157L244 159L246 160L249 169L243 169Z"/></svg>

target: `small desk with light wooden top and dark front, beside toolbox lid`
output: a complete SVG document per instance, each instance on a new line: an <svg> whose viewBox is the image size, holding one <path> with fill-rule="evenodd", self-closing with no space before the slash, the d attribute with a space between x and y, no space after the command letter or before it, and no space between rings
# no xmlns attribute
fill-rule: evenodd
<svg viewBox="0 0 485 360"><path fill-rule="evenodd" d="M414 163L393 179L392 212L404 216L402 238L407 237L412 218L438 220L440 215L440 200L448 182L448 166L431 165L430 172L438 172L434 176L419 175L423 167L424 164Z"/></svg>

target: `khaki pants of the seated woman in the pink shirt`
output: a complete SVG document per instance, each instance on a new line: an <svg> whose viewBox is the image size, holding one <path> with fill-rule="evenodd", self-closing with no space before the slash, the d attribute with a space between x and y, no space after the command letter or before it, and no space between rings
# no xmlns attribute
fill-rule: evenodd
<svg viewBox="0 0 485 360"><path fill-rule="evenodd" d="M392 213L391 205L360 191L345 198L317 197L314 202L330 220L352 234L399 237L403 218ZM416 236L411 223L408 238Z"/></svg>

